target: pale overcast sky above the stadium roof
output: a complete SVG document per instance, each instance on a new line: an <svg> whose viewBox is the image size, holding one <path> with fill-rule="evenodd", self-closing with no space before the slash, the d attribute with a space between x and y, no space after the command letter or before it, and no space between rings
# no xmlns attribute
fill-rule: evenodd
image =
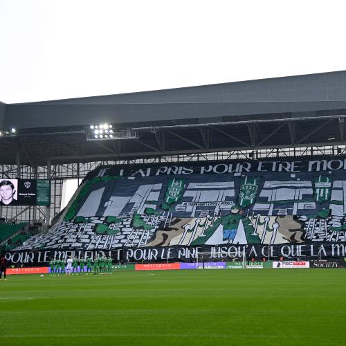
<svg viewBox="0 0 346 346"><path fill-rule="evenodd" d="M346 69L346 1L0 0L0 101Z"/></svg>

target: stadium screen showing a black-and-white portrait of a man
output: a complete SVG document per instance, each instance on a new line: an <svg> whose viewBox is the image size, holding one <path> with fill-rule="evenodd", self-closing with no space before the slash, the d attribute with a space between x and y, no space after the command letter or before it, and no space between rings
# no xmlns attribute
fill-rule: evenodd
<svg viewBox="0 0 346 346"><path fill-rule="evenodd" d="M0 206L49 206L48 179L0 179Z"/></svg>

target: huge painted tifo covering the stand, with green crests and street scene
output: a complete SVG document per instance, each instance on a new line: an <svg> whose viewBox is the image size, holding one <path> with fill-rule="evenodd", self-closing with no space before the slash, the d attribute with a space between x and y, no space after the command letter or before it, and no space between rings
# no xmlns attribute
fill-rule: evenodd
<svg viewBox="0 0 346 346"><path fill-rule="evenodd" d="M16 251L125 251L140 260L125 249L255 245L273 256L298 248L343 256L345 244L346 158L321 156L98 167L48 233Z"/></svg>

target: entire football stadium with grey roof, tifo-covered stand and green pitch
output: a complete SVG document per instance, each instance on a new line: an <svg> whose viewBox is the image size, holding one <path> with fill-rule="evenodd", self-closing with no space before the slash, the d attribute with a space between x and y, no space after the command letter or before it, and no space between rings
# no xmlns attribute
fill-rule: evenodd
<svg viewBox="0 0 346 346"><path fill-rule="evenodd" d="M1 345L345 345L345 80L0 103Z"/></svg>

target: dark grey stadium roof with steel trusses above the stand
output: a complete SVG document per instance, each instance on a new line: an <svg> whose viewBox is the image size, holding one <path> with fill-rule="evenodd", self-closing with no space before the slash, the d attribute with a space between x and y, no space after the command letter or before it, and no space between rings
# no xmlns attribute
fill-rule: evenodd
<svg viewBox="0 0 346 346"><path fill-rule="evenodd" d="M346 71L22 104L0 103L3 163L44 165L262 147L343 144ZM108 122L136 138L87 141Z"/></svg>

